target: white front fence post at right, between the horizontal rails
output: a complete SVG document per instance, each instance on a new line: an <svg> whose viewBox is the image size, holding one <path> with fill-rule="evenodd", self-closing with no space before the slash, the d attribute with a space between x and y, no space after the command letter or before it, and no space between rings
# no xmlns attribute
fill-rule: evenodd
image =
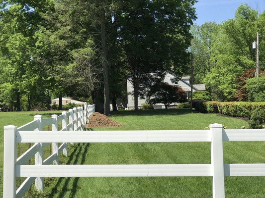
<svg viewBox="0 0 265 198"><path fill-rule="evenodd" d="M213 198L225 198L223 125L210 124L210 130L212 133Z"/></svg>

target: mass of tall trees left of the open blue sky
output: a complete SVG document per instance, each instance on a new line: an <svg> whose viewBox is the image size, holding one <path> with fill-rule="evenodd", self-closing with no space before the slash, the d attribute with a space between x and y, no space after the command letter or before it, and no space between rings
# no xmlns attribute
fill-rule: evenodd
<svg viewBox="0 0 265 198"><path fill-rule="evenodd" d="M109 103L134 96L151 72L186 71L195 0L0 2L0 102L49 108L51 97ZM130 76L128 76L130 74ZM104 104L104 108L103 108ZM114 109L115 110L115 109Z"/></svg>

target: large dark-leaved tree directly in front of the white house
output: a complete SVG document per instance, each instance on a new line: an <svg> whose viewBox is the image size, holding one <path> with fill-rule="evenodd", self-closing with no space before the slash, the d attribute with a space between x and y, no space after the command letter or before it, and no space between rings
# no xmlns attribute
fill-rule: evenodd
<svg viewBox="0 0 265 198"><path fill-rule="evenodd" d="M125 65L133 85L134 106L145 79L174 65L176 73L185 70L191 40L189 33L195 0L128 1L120 21L119 39L125 51ZM152 73L152 75L150 75Z"/></svg>

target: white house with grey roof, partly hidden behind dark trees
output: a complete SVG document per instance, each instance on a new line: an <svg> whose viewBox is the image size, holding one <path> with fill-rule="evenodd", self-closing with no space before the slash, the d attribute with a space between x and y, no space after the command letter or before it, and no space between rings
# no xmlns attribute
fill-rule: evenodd
<svg viewBox="0 0 265 198"><path fill-rule="evenodd" d="M190 97L191 93L191 85L189 84L189 76L183 76L180 80L177 80L178 76L174 73L167 71L164 82L168 83L169 85L179 86L181 87L184 92L187 94L187 98ZM205 91L205 85L193 85L193 92L197 91ZM133 86L129 80L127 80L127 96L128 96L128 109L134 109L134 97L130 94L133 92ZM145 103L145 99L138 98L138 108L141 108L142 103ZM177 105L177 103L172 103L170 106ZM155 109L158 108L165 108L164 104L155 104L153 105Z"/></svg>

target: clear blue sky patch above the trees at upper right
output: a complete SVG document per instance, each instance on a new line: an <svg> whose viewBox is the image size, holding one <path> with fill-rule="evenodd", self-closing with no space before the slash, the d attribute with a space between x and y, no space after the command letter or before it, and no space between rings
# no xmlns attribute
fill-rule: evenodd
<svg viewBox="0 0 265 198"><path fill-rule="evenodd" d="M240 4L249 4L252 9L260 13L265 10L265 0L198 0L195 4L197 19L195 23L202 25L208 21L221 23L229 18L234 18Z"/></svg>

